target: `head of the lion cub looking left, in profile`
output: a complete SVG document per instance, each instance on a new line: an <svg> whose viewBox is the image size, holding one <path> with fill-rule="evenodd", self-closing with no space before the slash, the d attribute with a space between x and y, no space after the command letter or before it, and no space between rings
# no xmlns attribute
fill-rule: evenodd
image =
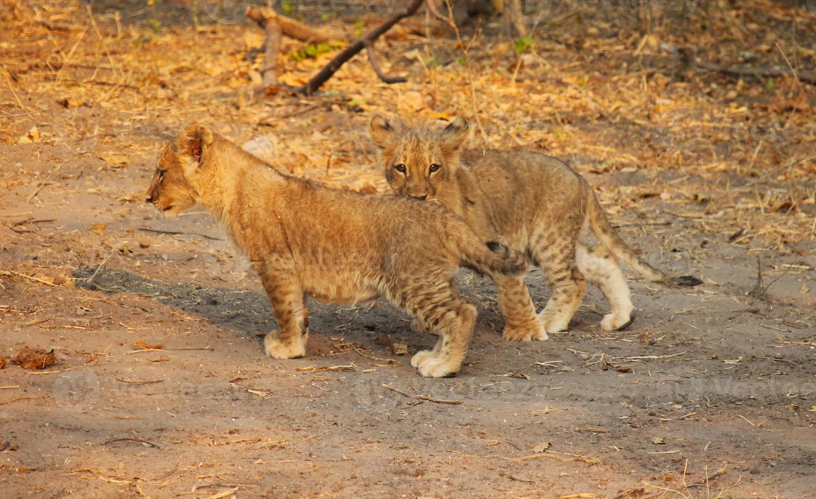
<svg viewBox="0 0 816 499"><path fill-rule="evenodd" d="M146 201L171 217L195 205L202 157L212 140L206 127L191 125L179 135L175 146L167 144L156 165Z"/></svg>

